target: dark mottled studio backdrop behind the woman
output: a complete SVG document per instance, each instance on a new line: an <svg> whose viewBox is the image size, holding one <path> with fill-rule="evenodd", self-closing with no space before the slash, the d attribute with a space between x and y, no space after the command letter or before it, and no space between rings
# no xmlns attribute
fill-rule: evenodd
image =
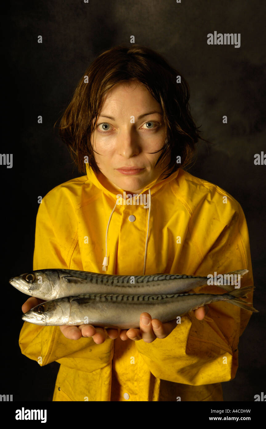
<svg viewBox="0 0 266 429"><path fill-rule="evenodd" d="M104 49L135 42L161 53L187 79L202 137L189 172L215 183L244 210L254 270L254 314L239 344L239 369L225 401L254 401L265 390L265 12L258 0L13 0L3 12L1 153L2 383L13 400L51 401L59 364L40 367L18 346L21 305L12 275L32 268L37 198L81 174L53 130L88 64ZM207 45L207 33L241 33L241 46ZM42 35L42 44L37 37ZM37 123L42 115L43 123ZM222 123L227 115L228 123ZM6 298L6 299L5 299ZM6 379L4 378L6 376Z"/></svg>

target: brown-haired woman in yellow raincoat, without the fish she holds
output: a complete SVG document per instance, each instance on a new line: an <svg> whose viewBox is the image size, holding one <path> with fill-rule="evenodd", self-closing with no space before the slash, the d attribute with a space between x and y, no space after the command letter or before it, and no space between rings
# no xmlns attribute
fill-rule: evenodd
<svg viewBox="0 0 266 429"><path fill-rule="evenodd" d="M33 269L133 276L248 269L241 285L253 284L241 206L182 169L200 138L188 99L185 79L148 48L117 46L96 58L60 123L85 175L42 200ZM38 302L30 298L22 310ZM181 323L143 313L140 329L121 331L25 322L19 344L41 365L61 364L53 401L220 401L251 313L227 302L206 311Z"/></svg>

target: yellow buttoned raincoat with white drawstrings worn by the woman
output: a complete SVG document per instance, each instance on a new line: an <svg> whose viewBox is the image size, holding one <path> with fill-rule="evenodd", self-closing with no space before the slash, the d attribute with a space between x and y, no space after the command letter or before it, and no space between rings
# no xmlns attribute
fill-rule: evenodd
<svg viewBox="0 0 266 429"><path fill-rule="evenodd" d="M253 284L244 213L220 187L179 169L143 190L151 192L149 209L137 204L114 209L119 191L111 192L105 178L100 180L87 166L87 175L60 184L42 199L34 270L103 273L110 219L106 273L142 275L149 217L145 275L248 269L241 287ZM224 293L217 286L195 289L201 290ZM252 293L248 297L251 301ZM107 334L102 344L92 338L70 340L59 326L24 322L19 344L42 366L60 363L53 401L221 401L221 382L236 375L239 336L250 316L216 302L203 320L191 311L170 335L152 343L112 340Z"/></svg>

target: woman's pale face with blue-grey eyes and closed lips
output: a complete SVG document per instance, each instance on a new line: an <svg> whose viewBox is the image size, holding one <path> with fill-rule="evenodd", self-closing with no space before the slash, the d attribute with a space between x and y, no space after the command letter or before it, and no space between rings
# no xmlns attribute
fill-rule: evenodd
<svg viewBox="0 0 266 429"><path fill-rule="evenodd" d="M139 82L114 85L105 96L92 136L101 173L115 189L140 193L169 163L168 157L155 167L164 133L161 106L146 88Z"/></svg>

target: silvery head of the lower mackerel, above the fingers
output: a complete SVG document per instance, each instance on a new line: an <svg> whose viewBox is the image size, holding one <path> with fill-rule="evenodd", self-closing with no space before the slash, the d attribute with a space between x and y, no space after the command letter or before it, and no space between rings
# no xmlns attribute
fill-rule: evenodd
<svg viewBox="0 0 266 429"><path fill-rule="evenodd" d="M44 326L67 325L70 317L69 298L54 299L36 305L22 316L25 322Z"/></svg>

